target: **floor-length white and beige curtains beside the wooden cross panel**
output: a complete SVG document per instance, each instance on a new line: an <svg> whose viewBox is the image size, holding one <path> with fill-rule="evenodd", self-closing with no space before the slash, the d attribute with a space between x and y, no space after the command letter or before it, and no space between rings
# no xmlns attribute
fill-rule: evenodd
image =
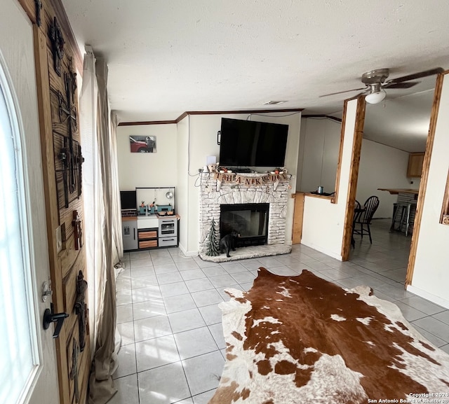
<svg viewBox="0 0 449 404"><path fill-rule="evenodd" d="M88 50L84 57L80 124L85 158L83 198L93 350L93 371L89 382L89 403L92 404L107 403L116 393L112 380L117 367L114 265L123 256L120 224L117 225L116 134L111 130L106 86L105 61L95 60L93 51Z"/></svg>

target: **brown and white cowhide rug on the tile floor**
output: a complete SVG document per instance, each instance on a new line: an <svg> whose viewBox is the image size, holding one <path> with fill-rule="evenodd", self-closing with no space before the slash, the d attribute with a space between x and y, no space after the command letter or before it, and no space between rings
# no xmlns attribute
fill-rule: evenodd
<svg viewBox="0 0 449 404"><path fill-rule="evenodd" d="M449 355L368 286L261 267L250 291L227 293L227 361L209 404L417 403L449 392Z"/></svg>

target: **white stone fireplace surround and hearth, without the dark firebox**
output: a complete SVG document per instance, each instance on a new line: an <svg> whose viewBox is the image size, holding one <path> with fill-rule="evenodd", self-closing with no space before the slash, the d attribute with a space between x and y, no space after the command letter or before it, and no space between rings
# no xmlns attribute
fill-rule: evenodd
<svg viewBox="0 0 449 404"><path fill-rule="evenodd" d="M245 177L261 178L267 174L241 174ZM213 173L200 174L200 242L199 256L203 260L222 262L243 258L274 256L291 252L291 243L286 243L286 212L290 195L290 180L280 176L279 181L269 181L262 185L242 185L235 181L222 181L217 190L217 180ZM268 237L264 246L248 246L220 256L207 256L208 232L214 220L220 223L221 204L269 203Z"/></svg>

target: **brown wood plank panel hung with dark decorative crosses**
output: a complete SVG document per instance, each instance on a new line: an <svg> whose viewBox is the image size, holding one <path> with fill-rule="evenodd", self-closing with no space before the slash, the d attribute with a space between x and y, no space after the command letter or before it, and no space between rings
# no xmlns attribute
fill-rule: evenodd
<svg viewBox="0 0 449 404"><path fill-rule="evenodd" d="M83 404L91 347L76 88L76 68L82 69L81 57L59 0L20 0L20 4L34 31L53 309L69 314L55 338L60 403Z"/></svg>

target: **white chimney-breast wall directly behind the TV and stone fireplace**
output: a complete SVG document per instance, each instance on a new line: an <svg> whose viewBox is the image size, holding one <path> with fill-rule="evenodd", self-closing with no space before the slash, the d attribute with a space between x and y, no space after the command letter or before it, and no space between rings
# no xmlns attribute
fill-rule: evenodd
<svg viewBox="0 0 449 404"><path fill-rule="evenodd" d="M258 120L272 123L285 123L289 125L286 168L288 172L295 174L297 172L298 148L300 139L300 113L267 113L251 116L251 120ZM246 119L248 114L228 114L228 115L193 115L190 116L190 154L189 154L189 173L190 175L198 174L198 169L206 164L208 155L215 155L218 160L220 146L217 145L217 131L220 130L221 118ZM199 188L196 181L198 176L189 176L189 224L187 249L188 251L197 251L199 245ZM295 192L296 178L291 180L292 193ZM286 242L291 243L293 232L293 209L294 200L290 198L287 208L286 223Z"/></svg>

